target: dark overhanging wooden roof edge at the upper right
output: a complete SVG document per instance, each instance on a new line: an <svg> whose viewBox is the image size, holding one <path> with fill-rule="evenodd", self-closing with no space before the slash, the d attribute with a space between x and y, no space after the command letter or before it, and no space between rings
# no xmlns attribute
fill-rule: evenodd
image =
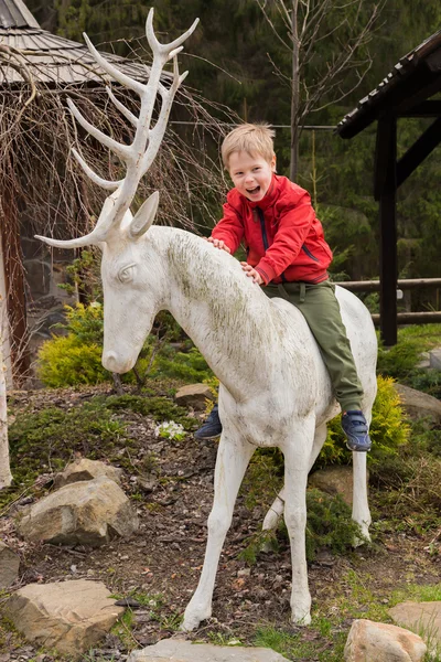
<svg viewBox="0 0 441 662"><path fill-rule="evenodd" d="M441 92L441 30L410 51L336 127L353 138L385 114L396 117L441 115L441 102L424 102ZM434 105L437 104L437 105ZM434 113L434 109L437 113Z"/></svg>

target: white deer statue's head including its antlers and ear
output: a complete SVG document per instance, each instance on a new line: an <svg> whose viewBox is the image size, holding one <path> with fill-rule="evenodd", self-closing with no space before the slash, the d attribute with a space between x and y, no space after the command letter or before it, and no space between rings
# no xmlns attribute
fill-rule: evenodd
<svg viewBox="0 0 441 662"><path fill-rule="evenodd" d="M78 124L126 164L126 177L119 181L103 179L92 170L79 152L73 149L75 159L92 181L114 192L106 199L97 224L89 234L69 241L57 241L39 235L36 237L50 246L60 248L78 248L90 245L99 245L103 248L101 278L105 298L103 364L112 372L122 373L132 367L151 328L154 314L161 308L159 296L157 296L154 305L142 306L139 297L139 284L144 282L146 279L140 278L139 274L137 275L137 270L143 271L146 275L148 265L146 265L146 255L141 250L140 244L155 217L159 193L155 191L150 195L135 216L130 212L130 204L142 175L149 170L158 153L174 95L189 73L180 75L178 54L183 50L181 44L193 33L197 22L198 19L173 42L161 44L153 31L153 9L150 9L146 34L153 53L153 62L147 84L130 78L110 64L84 34L87 47L96 62L115 81L140 97L139 117L136 117L107 87L112 103L135 127L135 138L131 145L122 145L94 127L80 114L75 104L71 99L67 100L69 110ZM173 60L173 76L170 87L166 87L161 83L161 74L170 60ZM161 109L154 126L151 126L158 94L161 97ZM144 319L141 320L140 317Z"/></svg>

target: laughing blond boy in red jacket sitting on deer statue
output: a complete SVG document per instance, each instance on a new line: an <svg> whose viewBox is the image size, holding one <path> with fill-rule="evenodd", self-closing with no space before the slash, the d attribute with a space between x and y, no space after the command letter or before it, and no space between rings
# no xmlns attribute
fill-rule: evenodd
<svg viewBox="0 0 441 662"><path fill-rule="evenodd" d="M208 238L216 248L235 253L244 239L244 273L268 297L297 306L320 346L342 407L342 427L351 450L370 450L361 410L358 381L327 267L332 252L306 191L276 174L275 132L267 125L245 124L222 145L222 159L235 185L224 204L224 217ZM222 433L217 405L195 433L212 439Z"/></svg>

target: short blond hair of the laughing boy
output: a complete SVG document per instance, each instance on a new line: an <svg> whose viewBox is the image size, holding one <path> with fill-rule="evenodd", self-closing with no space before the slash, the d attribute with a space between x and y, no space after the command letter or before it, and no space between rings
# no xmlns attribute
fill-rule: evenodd
<svg viewBox="0 0 441 662"><path fill-rule="evenodd" d="M268 163L275 156L272 142L276 131L266 124L244 124L236 127L224 139L220 154L224 167L228 170L229 157L233 152L246 151L251 157L262 157Z"/></svg>

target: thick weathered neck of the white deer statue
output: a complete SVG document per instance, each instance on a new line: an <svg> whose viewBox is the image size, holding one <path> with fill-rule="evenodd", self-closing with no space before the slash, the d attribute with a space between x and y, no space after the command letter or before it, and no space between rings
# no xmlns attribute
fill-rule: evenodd
<svg viewBox="0 0 441 662"><path fill-rule="evenodd" d="M166 308L241 401L261 388L277 338L270 300L237 260L187 232L154 227L168 263Z"/></svg>

